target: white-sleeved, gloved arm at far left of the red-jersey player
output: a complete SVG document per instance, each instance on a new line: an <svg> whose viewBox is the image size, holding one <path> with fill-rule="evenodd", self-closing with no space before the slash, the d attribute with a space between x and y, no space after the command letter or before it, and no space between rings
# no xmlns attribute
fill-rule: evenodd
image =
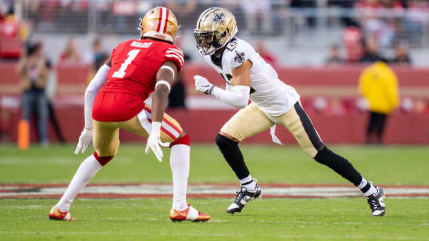
<svg viewBox="0 0 429 241"><path fill-rule="evenodd" d="M85 105L84 105L84 116L85 126L84 131L80 134L79 143L77 143L75 154L79 154L80 149L82 153L86 151L93 137L93 122L92 122L92 106L94 104L95 96L98 94L100 88L106 83L107 73L110 70L110 59L100 67L98 72L95 74L88 87L85 90Z"/></svg>

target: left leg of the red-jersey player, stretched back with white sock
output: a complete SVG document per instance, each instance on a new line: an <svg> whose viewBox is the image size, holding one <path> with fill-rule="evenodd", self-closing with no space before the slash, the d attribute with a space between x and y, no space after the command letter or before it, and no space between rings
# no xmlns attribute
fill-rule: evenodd
<svg viewBox="0 0 429 241"><path fill-rule="evenodd" d="M84 186L106 165L118 152L119 128L116 122L94 123L93 144L95 152L86 157L80 164L73 179L67 187L60 202L57 203L49 213L53 220L74 220L69 213L71 203Z"/></svg>

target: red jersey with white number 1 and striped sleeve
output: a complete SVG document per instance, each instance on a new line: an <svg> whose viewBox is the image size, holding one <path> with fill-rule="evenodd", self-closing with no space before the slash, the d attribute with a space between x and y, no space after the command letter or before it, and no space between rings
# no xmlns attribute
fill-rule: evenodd
<svg viewBox="0 0 429 241"><path fill-rule="evenodd" d="M95 97L93 119L122 122L136 116L154 92L163 63L173 61L180 71L183 60L182 50L164 41L131 39L118 44L111 54L106 84Z"/></svg>

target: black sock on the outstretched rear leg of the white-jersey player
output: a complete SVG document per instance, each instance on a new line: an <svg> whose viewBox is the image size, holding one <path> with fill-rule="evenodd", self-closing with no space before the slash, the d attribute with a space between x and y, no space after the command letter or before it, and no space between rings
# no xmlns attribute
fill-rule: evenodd
<svg viewBox="0 0 429 241"><path fill-rule="evenodd" d="M316 157L314 157L314 160L320 164L328 166L336 173L349 180L349 182L352 182L354 186L358 186L362 180L360 173L356 171L356 169L349 161L347 161L347 159L337 155L327 147L320 150Z"/></svg>

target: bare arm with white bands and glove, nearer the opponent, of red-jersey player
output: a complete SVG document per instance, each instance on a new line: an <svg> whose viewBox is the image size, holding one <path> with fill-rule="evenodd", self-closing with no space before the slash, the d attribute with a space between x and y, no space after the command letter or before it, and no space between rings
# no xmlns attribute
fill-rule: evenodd
<svg viewBox="0 0 429 241"><path fill-rule="evenodd" d="M168 93L171 84L177 75L177 66L172 61L165 61L156 73L156 84L152 97L152 130L147 138L146 154L152 150L158 161L162 162L163 151L159 146L169 146L170 143L161 142L161 123L167 106Z"/></svg>

